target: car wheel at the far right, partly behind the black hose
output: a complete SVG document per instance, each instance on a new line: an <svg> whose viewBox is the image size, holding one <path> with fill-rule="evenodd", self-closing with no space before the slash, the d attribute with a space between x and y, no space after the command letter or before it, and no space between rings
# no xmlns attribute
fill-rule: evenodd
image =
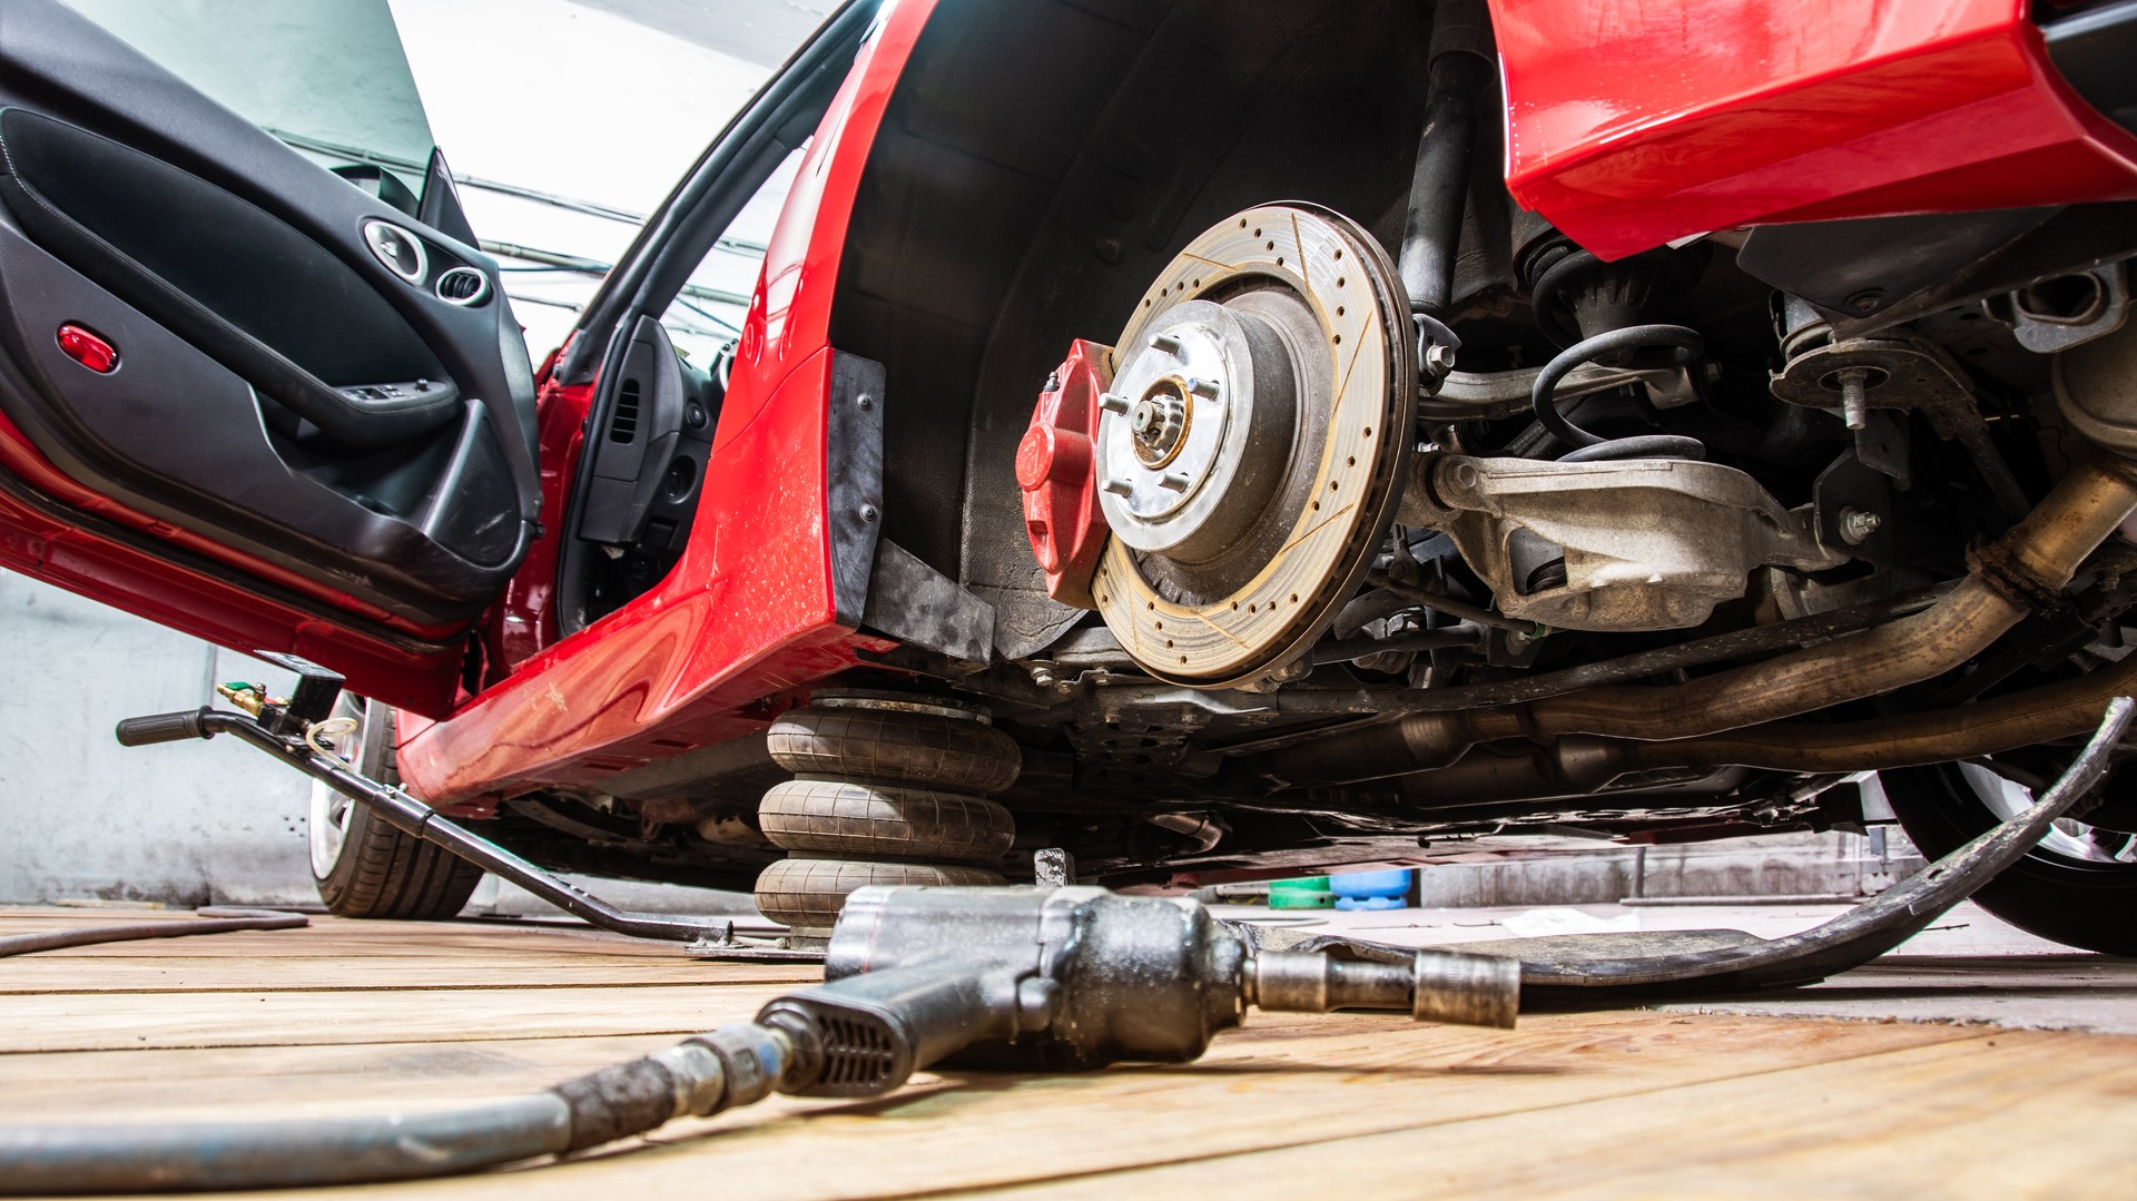
<svg viewBox="0 0 2137 1201"><path fill-rule="evenodd" d="M1885 797L1900 827L1930 859L1938 859L2032 804L2024 784L1975 763L1943 763L1883 771ZM2101 784L2107 801L2064 818L2011 870L1990 880L1975 902L1996 917L2056 942L2137 955L2137 765Z"/></svg>

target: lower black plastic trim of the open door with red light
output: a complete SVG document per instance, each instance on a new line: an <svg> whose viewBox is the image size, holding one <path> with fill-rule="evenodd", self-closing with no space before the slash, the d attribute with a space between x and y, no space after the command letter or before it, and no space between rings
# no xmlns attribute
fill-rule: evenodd
<svg viewBox="0 0 2137 1201"><path fill-rule="evenodd" d="M53 338L62 321L122 346L120 368L98 374L68 359ZM0 410L75 481L410 622L472 620L524 553L528 524L502 464L487 468L485 489L466 470L470 455L453 453L455 442L481 444L468 438L481 438L487 410L457 406L462 432L438 447L444 462L421 487L397 500L363 500L331 474L359 462L312 464L297 447L278 449L237 374L4 222L0 363L9 368L0 372ZM468 502L487 513L464 515ZM447 509L459 513L449 517ZM502 521L500 532L509 532L502 560L470 562L425 530L483 521Z"/></svg>

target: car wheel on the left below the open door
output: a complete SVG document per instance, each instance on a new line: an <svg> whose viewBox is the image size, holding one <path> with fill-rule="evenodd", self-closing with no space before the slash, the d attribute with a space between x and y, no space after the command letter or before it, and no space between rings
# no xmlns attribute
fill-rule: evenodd
<svg viewBox="0 0 2137 1201"><path fill-rule="evenodd" d="M342 759L372 780L397 784L393 709L344 692L333 716L357 722L336 739ZM483 878L474 863L393 829L316 780L308 833L318 900L340 917L442 921L468 904Z"/></svg>

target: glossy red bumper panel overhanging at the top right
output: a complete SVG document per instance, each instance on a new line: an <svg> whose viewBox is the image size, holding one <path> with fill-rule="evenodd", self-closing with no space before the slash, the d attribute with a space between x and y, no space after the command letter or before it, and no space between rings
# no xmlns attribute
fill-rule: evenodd
<svg viewBox="0 0 2137 1201"><path fill-rule="evenodd" d="M1507 184L1605 259L1714 229L2137 199L2022 0L1489 0Z"/></svg>

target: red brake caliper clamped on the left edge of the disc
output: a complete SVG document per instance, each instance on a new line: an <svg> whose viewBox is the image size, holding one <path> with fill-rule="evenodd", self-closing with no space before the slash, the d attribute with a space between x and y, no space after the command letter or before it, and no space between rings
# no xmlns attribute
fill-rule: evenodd
<svg viewBox="0 0 2137 1201"><path fill-rule="evenodd" d="M1017 485L1024 489L1024 530L1032 556L1047 573L1047 596L1077 609L1096 609L1090 577L1105 547L1092 438L1098 434L1098 397L1113 380L1111 346L1077 340L1068 361L1039 393L1032 427L1017 442Z"/></svg>

